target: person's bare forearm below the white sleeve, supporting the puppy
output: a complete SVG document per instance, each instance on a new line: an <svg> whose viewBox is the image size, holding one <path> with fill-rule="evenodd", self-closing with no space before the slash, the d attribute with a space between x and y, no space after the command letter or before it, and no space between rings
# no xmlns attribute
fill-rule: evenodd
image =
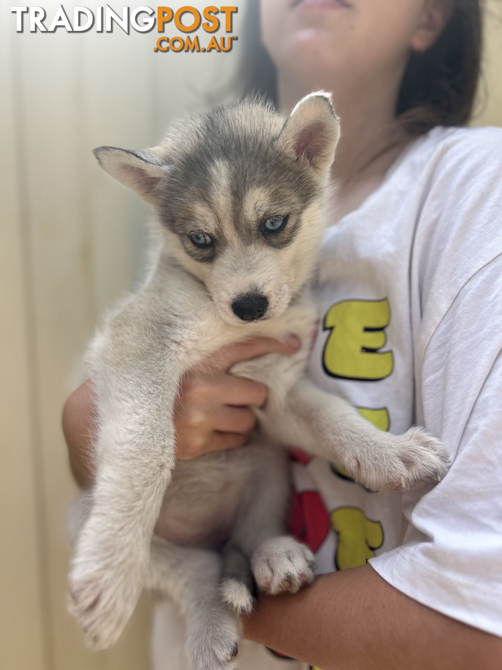
<svg viewBox="0 0 502 670"><path fill-rule="evenodd" d="M258 600L244 636L322 670L499 670L502 639L385 582L370 565Z"/></svg>

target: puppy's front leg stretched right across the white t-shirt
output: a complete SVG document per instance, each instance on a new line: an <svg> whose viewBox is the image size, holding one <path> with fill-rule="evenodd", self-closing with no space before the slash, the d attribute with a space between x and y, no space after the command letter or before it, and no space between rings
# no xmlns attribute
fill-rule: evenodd
<svg viewBox="0 0 502 670"><path fill-rule="evenodd" d="M302 378L285 407L264 420L276 440L334 461L363 486L380 492L406 490L422 480L438 480L448 455L436 438L413 427L404 435L375 428L340 397ZM268 413L267 413L268 415Z"/></svg>

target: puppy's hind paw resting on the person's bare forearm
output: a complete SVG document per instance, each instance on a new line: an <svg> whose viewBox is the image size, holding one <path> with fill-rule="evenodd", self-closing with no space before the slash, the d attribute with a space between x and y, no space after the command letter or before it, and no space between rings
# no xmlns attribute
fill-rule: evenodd
<svg viewBox="0 0 502 670"><path fill-rule="evenodd" d="M254 552L251 567L261 591L296 593L313 582L315 559L309 547L292 537L273 537Z"/></svg>

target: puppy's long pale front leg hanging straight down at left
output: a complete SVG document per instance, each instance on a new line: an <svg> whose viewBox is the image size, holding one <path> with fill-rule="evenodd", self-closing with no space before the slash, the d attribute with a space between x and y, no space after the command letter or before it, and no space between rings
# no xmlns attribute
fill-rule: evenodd
<svg viewBox="0 0 502 670"><path fill-rule="evenodd" d="M76 539L68 609L91 649L118 638L141 593L174 464L177 364L153 331L120 355L110 336L93 361L99 411L92 507Z"/></svg>

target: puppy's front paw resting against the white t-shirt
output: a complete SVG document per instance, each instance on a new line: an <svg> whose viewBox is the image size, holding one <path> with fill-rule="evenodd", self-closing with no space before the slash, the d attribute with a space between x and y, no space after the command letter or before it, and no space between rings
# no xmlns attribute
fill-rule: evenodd
<svg viewBox="0 0 502 670"><path fill-rule="evenodd" d="M423 428L414 427L404 435L378 435L363 458L349 459L347 470L366 488L386 493L408 490L419 482L440 481L448 465L441 442Z"/></svg>

